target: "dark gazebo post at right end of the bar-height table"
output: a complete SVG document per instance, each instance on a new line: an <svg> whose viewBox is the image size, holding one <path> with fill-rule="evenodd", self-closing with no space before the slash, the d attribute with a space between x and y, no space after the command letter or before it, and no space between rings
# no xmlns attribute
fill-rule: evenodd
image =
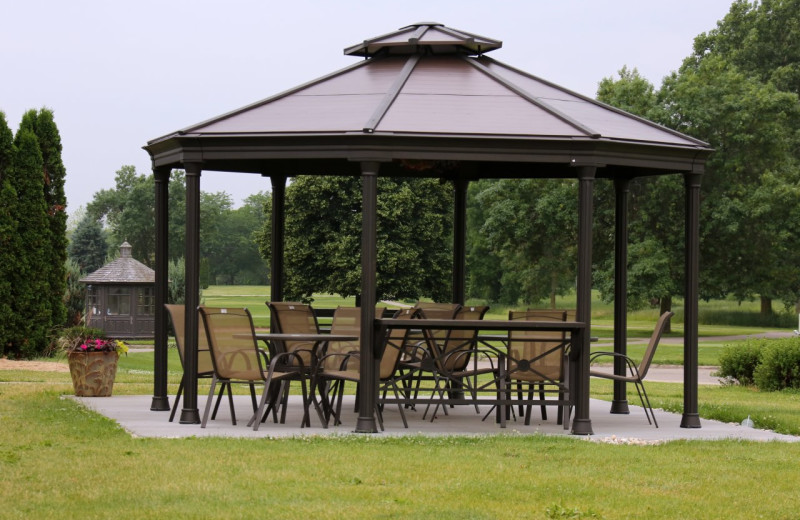
<svg viewBox="0 0 800 520"><path fill-rule="evenodd" d="M578 305L575 319L586 324L578 335L578 349L570 355L570 397L575 402L574 435L591 435L589 417L589 339L592 324L592 214L597 168L578 167Z"/></svg>

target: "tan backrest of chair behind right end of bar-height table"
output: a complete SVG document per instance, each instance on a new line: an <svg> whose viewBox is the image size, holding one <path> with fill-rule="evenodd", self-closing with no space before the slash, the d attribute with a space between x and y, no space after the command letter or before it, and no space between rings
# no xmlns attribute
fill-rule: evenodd
<svg viewBox="0 0 800 520"><path fill-rule="evenodd" d="M566 321L566 317L567 313L563 310L533 309L508 312L509 320ZM565 347L557 347L564 345L565 332L511 330L508 337L511 340L508 347L508 372L512 379L541 381L544 378L557 380L561 377ZM526 341L526 338L531 339ZM548 351L550 352L547 353ZM536 372L517 370L517 360L530 361L531 368Z"/></svg>

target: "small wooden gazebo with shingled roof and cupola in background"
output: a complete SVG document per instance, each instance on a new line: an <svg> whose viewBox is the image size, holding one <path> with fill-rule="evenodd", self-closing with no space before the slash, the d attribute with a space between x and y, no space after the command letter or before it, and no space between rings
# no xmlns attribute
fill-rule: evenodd
<svg viewBox="0 0 800 520"><path fill-rule="evenodd" d="M86 284L86 325L115 338L152 338L155 271L119 246L119 258L80 279ZM163 307L163 305L162 305Z"/></svg>

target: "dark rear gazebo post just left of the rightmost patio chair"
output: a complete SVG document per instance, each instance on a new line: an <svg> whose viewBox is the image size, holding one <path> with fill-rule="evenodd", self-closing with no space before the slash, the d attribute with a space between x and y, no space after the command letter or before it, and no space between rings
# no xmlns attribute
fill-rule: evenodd
<svg viewBox="0 0 800 520"><path fill-rule="evenodd" d="M630 180L614 179L616 213L614 232L614 352L628 351L628 193ZM625 360L614 358L614 373L625 375ZM625 381L614 381L611 413L628 414L628 394Z"/></svg>

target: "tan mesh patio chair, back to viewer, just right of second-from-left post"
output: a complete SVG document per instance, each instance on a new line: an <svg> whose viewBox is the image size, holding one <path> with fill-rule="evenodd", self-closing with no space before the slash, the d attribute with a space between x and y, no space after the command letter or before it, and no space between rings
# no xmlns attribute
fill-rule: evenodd
<svg viewBox="0 0 800 520"><path fill-rule="evenodd" d="M301 426L307 424L308 394L300 355L294 352L277 353L270 359L269 367L266 367L267 355L258 348L253 318L247 309L200 306L200 316L203 318L208 344L211 347L211 360L214 364L209 400L206 402L201 427L206 427L211 397L218 382L228 384L258 382L264 385L258 409L248 423L248 426L253 425L253 430L258 430L267 399L275 391L272 383L299 380L303 389L304 410ZM294 362L286 362L288 358L293 358Z"/></svg>

